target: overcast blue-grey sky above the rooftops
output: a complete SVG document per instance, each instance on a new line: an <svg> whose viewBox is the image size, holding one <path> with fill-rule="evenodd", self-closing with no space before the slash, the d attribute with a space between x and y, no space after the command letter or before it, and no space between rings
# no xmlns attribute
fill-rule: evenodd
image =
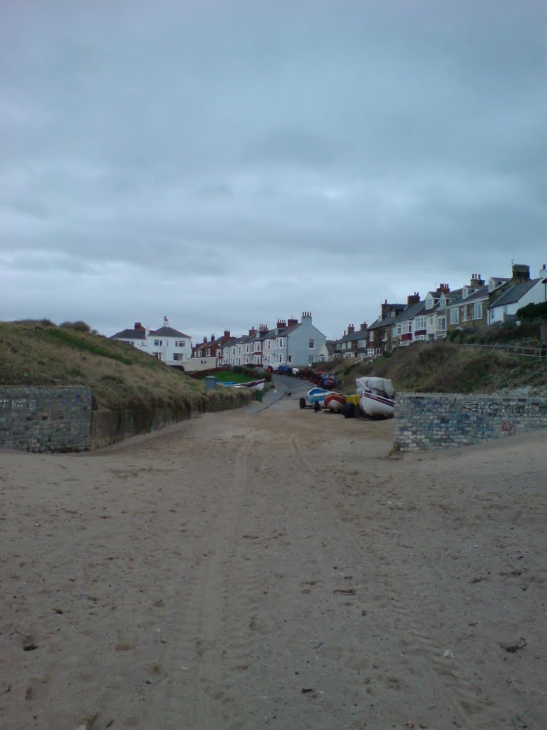
<svg viewBox="0 0 547 730"><path fill-rule="evenodd" d="M544 0L2 0L0 319L198 341L547 263Z"/></svg>

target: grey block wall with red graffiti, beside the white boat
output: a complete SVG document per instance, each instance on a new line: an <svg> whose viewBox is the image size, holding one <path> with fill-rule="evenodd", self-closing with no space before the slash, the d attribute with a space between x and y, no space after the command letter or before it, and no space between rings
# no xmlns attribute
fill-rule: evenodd
<svg viewBox="0 0 547 730"><path fill-rule="evenodd" d="M397 393L401 451L446 449L547 429L547 399L453 393Z"/></svg>

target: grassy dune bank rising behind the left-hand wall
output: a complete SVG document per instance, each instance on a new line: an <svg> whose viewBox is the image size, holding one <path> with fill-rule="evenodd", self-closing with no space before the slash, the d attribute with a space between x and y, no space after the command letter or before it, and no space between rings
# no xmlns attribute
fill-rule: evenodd
<svg viewBox="0 0 547 730"><path fill-rule="evenodd" d="M206 393L203 381L98 334L50 323L0 323L0 385L85 385L94 408L173 407L224 410L248 399L238 391Z"/></svg>

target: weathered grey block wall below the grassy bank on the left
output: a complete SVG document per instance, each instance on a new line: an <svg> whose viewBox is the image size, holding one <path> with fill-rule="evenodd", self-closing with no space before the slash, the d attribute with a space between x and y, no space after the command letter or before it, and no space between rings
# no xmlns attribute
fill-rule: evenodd
<svg viewBox="0 0 547 730"><path fill-rule="evenodd" d="M82 451L90 448L90 388L0 388L0 448Z"/></svg>

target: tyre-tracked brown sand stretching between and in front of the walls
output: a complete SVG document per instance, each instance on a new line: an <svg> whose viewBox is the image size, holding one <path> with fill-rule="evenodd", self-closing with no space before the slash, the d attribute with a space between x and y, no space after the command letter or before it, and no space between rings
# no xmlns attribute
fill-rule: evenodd
<svg viewBox="0 0 547 730"><path fill-rule="evenodd" d="M1 453L0 727L547 728L546 434L205 415Z"/></svg>

